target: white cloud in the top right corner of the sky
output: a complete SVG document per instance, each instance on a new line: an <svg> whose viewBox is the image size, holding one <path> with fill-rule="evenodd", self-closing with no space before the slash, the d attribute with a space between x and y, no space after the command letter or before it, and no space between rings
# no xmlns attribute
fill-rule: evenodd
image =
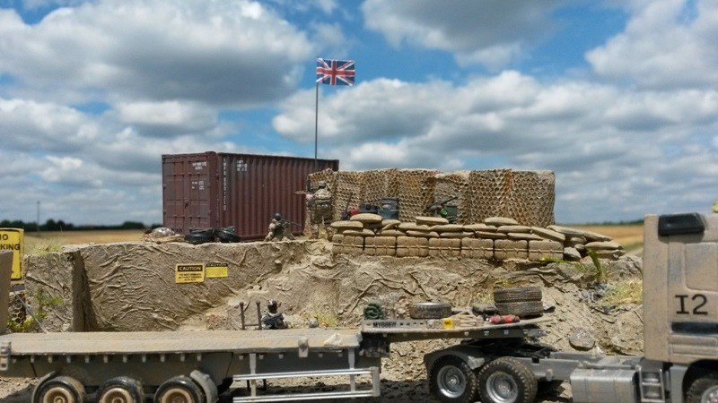
<svg viewBox="0 0 718 403"><path fill-rule="evenodd" d="M649 88L718 85L713 0L635 0L626 30L586 54L596 73ZM687 7L695 5L695 10Z"/></svg>

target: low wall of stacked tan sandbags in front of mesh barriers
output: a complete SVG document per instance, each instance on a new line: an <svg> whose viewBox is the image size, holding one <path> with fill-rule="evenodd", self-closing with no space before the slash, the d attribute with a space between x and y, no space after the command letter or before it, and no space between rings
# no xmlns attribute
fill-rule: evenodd
<svg viewBox="0 0 718 403"><path fill-rule="evenodd" d="M519 259L577 261L594 251L600 258L625 253L609 236L577 228L522 226L516 220L490 217L477 224L449 224L437 217L413 222L358 214L332 223L332 252L371 256L464 257L487 260Z"/></svg>

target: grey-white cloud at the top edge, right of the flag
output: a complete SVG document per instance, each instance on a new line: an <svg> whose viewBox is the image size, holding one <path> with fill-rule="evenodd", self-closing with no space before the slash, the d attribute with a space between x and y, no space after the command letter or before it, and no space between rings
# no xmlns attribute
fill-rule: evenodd
<svg viewBox="0 0 718 403"><path fill-rule="evenodd" d="M445 50L460 64L499 69L554 30L550 14L564 3L367 0L362 10L367 28L381 32L395 46Z"/></svg>

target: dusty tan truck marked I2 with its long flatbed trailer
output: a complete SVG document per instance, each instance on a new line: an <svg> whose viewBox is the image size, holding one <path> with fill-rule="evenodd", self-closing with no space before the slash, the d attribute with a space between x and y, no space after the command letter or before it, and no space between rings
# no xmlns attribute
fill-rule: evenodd
<svg viewBox="0 0 718 403"><path fill-rule="evenodd" d="M528 403L540 384L563 381L577 403L716 402L718 214L645 218L644 313L644 356L556 351L534 341L548 318L491 325L452 315L357 330L4 334L0 375L41 377L32 403L210 403L232 382L250 386L234 402L377 397L391 343L462 339L425 356L430 390L445 402ZM258 393L260 380L325 375L347 376L346 390Z"/></svg>

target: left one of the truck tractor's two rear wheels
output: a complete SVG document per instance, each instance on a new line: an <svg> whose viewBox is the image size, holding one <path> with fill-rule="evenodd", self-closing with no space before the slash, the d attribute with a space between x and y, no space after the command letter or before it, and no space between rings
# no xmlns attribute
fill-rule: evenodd
<svg viewBox="0 0 718 403"><path fill-rule="evenodd" d="M444 356L432 365L429 390L443 402L472 403L477 399L477 374L456 356Z"/></svg>

